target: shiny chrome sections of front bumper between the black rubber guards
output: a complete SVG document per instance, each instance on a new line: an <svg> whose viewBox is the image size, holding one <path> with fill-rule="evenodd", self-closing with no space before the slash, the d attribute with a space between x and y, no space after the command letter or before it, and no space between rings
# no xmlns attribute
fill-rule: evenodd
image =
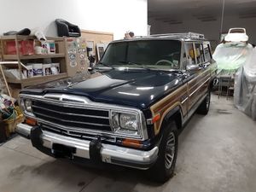
<svg viewBox="0 0 256 192"><path fill-rule="evenodd" d="M16 131L21 136L29 138L31 129L31 125L18 124ZM90 141L43 131L41 142L43 143L44 148L49 149L52 149L53 144L62 144L76 148L73 156L90 160ZM102 143L100 154L102 162L120 166L130 166L138 169L148 169L154 164L155 160L157 160L158 147L154 147L149 151L143 151Z"/></svg>

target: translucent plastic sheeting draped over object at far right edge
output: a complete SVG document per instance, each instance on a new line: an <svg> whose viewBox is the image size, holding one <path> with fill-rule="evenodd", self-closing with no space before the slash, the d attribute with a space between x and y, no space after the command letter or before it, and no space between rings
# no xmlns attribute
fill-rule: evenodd
<svg viewBox="0 0 256 192"><path fill-rule="evenodd" d="M256 49L247 56L235 76L234 102L236 108L256 120Z"/></svg>

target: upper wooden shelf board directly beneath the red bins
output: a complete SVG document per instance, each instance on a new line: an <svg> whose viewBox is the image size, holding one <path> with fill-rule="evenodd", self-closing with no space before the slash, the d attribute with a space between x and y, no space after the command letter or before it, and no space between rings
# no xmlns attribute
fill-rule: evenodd
<svg viewBox="0 0 256 192"><path fill-rule="evenodd" d="M3 55L3 60L33 60L33 59L46 59L46 58L61 58L65 54L47 54L47 55Z"/></svg>

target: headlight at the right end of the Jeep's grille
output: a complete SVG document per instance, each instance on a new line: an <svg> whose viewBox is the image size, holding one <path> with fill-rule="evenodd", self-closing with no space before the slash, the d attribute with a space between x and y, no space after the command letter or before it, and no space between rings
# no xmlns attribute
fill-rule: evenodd
<svg viewBox="0 0 256 192"><path fill-rule="evenodd" d="M131 113L120 113L119 114L119 124L123 129L137 131L138 121L137 115Z"/></svg>

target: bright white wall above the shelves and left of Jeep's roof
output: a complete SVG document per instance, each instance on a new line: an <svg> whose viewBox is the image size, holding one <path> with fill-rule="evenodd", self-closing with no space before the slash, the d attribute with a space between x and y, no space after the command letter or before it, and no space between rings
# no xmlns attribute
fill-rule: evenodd
<svg viewBox="0 0 256 192"><path fill-rule="evenodd" d="M124 38L128 30L147 35L147 0L0 0L0 34L25 27L41 27L47 36L56 36L57 18L81 29L113 32Z"/></svg>

